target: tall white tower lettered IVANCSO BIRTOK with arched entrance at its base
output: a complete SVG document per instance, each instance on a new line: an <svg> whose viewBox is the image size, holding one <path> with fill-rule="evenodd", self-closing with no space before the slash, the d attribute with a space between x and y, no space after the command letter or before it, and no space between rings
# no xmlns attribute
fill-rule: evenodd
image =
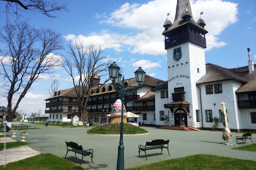
<svg viewBox="0 0 256 170"><path fill-rule="evenodd" d="M197 122L196 117L201 115L196 82L206 74L205 25L201 17L194 21L189 0L177 0L173 24L167 18L163 25L169 94L169 103L164 106L174 114L175 126L191 126L189 121Z"/></svg>

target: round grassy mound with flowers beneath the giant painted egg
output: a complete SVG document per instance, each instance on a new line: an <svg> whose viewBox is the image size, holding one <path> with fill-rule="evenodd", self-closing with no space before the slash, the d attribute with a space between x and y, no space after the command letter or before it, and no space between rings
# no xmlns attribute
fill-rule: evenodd
<svg viewBox="0 0 256 170"><path fill-rule="evenodd" d="M108 125L108 124L106 124ZM102 125L104 126L104 125ZM88 130L87 133L93 133L93 134L120 134L120 128L115 129L118 126L118 123L112 124L109 129L104 129L99 127L94 127L91 130ZM126 129L125 129L126 128ZM123 134L142 134L142 133L148 133L145 129L142 129L140 127L129 127L127 124L124 124L124 130Z"/></svg>

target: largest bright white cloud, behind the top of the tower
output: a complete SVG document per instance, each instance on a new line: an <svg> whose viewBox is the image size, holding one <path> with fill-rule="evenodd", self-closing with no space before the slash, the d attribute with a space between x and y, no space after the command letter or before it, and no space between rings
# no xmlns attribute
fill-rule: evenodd
<svg viewBox="0 0 256 170"><path fill-rule="evenodd" d="M89 36L70 34L64 37L72 41L80 39L88 42L88 45L100 43L104 45L103 48L113 48L118 52L128 50L133 54L164 55L166 50L164 36L161 34L164 31L162 26L167 12L170 12L170 21L174 21L176 2L155 0L142 5L125 3L112 12L108 19L100 21L102 24L131 29L127 34L103 30ZM205 29L209 31L206 34L206 50L227 45L217 36L237 21L238 4L222 0L190 0L190 4L195 21L199 19L200 11L204 11L202 18L206 22Z"/></svg>

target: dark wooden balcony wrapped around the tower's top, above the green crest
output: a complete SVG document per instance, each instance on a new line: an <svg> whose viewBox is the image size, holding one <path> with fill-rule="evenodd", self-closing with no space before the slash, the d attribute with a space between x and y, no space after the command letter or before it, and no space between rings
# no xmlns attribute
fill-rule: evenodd
<svg viewBox="0 0 256 170"><path fill-rule="evenodd" d="M185 43L187 41L193 42L197 45L200 45L206 48L206 38L201 35L194 33L193 31L185 31L181 34L172 36L164 41L165 49L174 47L176 45Z"/></svg>

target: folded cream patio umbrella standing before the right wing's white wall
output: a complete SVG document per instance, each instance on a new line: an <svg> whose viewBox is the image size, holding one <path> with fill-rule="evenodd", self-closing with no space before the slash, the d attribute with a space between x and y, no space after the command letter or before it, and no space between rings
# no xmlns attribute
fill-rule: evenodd
<svg viewBox="0 0 256 170"><path fill-rule="evenodd" d="M230 129L228 128L228 116L225 108L225 103L221 102L220 103L221 107L221 117L222 117L222 123L224 130L222 131L222 139L226 141L231 141L231 132Z"/></svg>

